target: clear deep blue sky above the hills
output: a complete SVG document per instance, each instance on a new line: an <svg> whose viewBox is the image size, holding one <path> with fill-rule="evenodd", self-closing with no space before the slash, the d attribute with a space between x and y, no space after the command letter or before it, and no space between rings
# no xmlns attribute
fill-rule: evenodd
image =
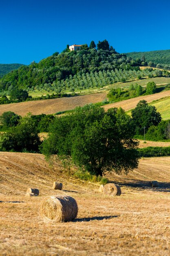
<svg viewBox="0 0 170 256"><path fill-rule="evenodd" d="M0 63L30 64L67 44L170 49L169 0L0 0Z"/></svg>

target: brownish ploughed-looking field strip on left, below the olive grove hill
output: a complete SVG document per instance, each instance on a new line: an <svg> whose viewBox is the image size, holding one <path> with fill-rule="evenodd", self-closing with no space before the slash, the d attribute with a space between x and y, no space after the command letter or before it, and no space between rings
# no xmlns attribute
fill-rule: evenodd
<svg viewBox="0 0 170 256"><path fill-rule="evenodd" d="M5 111L13 111L21 116L28 112L31 112L32 115L54 114L59 111L72 110L77 106L82 107L86 104L101 102L104 99L106 99L106 93L101 92L70 98L11 103L0 105L0 115Z"/></svg>

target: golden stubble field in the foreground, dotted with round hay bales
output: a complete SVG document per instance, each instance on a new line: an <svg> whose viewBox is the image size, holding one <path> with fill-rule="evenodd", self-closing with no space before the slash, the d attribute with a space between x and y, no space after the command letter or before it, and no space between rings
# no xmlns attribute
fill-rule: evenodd
<svg viewBox="0 0 170 256"><path fill-rule="evenodd" d="M120 197L67 176L60 162L49 167L43 155L0 152L0 255L169 256L170 157L141 159L128 176L106 176L121 186ZM62 191L51 189L54 180L63 183ZM159 188L151 189L150 180ZM29 186L40 195L26 198ZM40 202L56 194L77 200L75 221L48 224L40 218Z"/></svg>

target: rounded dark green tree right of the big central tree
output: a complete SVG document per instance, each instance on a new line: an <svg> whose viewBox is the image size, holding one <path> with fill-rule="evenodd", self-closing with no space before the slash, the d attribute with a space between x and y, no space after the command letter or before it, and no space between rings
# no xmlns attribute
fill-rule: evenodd
<svg viewBox="0 0 170 256"><path fill-rule="evenodd" d="M149 106L147 101L141 100L136 108L132 110L132 124L136 134L144 134L150 126L157 126L161 121L161 114L157 112L155 106Z"/></svg>

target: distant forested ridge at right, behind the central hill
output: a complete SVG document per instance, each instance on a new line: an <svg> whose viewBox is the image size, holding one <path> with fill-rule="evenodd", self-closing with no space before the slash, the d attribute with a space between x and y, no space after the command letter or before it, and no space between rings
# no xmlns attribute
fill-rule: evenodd
<svg viewBox="0 0 170 256"><path fill-rule="evenodd" d="M170 65L170 50L151 51L151 52L128 52L128 57L137 59L145 58L147 62L156 64Z"/></svg>

